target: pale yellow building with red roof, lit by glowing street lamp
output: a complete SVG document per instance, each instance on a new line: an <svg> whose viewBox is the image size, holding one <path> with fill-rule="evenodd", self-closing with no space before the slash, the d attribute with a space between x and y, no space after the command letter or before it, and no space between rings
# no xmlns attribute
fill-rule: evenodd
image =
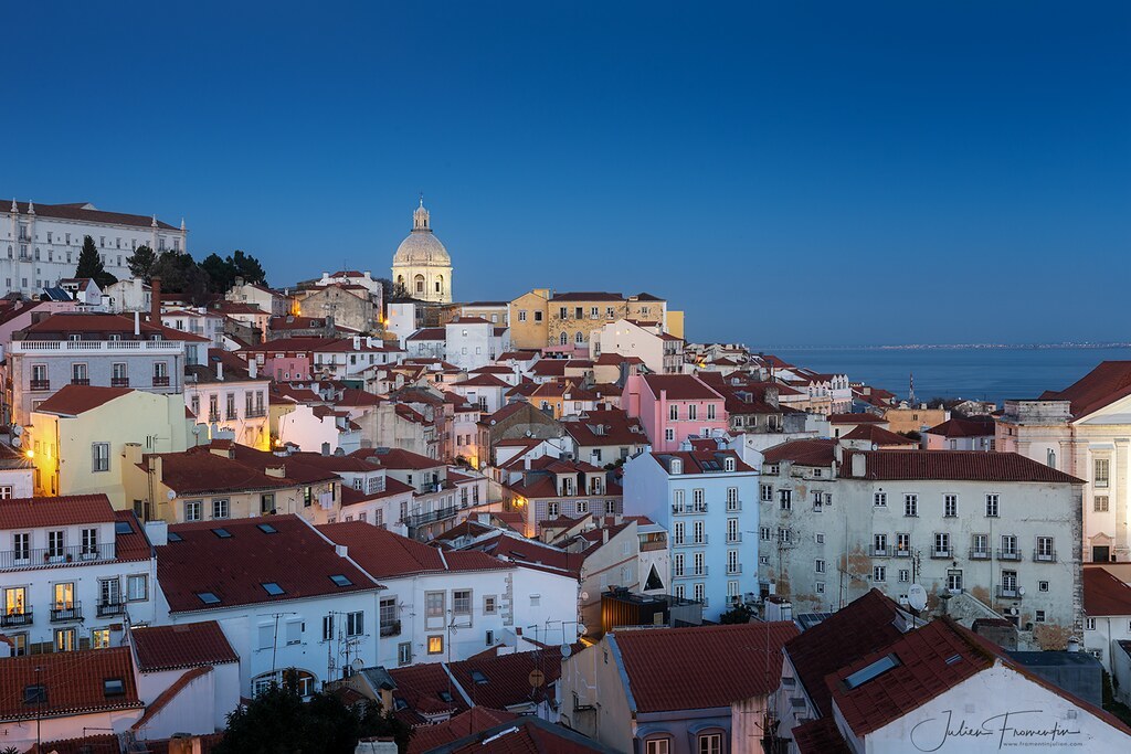
<svg viewBox="0 0 1131 754"><path fill-rule="evenodd" d="M35 494L103 493L115 510L135 508L124 482L130 448L180 452L195 437L180 393L68 384L31 418Z"/></svg>

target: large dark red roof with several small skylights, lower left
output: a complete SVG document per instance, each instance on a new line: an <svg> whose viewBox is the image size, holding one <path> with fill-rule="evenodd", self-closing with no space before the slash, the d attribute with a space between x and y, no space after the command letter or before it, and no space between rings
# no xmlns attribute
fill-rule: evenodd
<svg viewBox="0 0 1131 754"><path fill-rule="evenodd" d="M259 529L270 525L275 534ZM216 529L232 536L221 538ZM334 545L295 515L267 515L228 521L200 521L169 527L181 541L157 547L157 579L171 613L207 610L320 597L379 588L361 569L337 555ZM302 553L302 567L293 567ZM338 587L331 575L352 583ZM279 596L262 584L275 582ZM198 595L211 592L219 603L208 605Z"/></svg>

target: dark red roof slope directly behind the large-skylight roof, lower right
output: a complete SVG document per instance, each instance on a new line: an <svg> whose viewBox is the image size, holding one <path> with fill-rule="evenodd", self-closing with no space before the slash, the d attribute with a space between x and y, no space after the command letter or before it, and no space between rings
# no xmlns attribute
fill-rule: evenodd
<svg viewBox="0 0 1131 754"><path fill-rule="evenodd" d="M820 714L832 711L824 676L899 639L898 615L899 606L872 589L785 644L797 682Z"/></svg>

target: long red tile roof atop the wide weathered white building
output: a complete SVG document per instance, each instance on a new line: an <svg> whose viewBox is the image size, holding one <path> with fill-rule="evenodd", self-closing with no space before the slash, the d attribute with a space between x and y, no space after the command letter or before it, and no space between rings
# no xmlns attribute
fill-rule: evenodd
<svg viewBox="0 0 1131 754"><path fill-rule="evenodd" d="M1083 484L1080 479L1017 453L977 450L845 451L841 477L852 474L855 457L864 459L864 479L965 479L973 482L1042 482Z"/></svg>

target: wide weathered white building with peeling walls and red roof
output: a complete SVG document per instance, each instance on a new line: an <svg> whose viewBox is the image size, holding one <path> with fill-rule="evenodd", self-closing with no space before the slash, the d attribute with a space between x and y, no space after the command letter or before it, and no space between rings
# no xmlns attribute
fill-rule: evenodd
<svg viewBox="0 0 1131 754"><path fill-rule="evenodd" d="M1022 640L1063 649L1078 627L1078 479L1013 453L851 451L801 440L766 452L759 579L802 612L875 588L906 601L966 592Z"/></svg>

